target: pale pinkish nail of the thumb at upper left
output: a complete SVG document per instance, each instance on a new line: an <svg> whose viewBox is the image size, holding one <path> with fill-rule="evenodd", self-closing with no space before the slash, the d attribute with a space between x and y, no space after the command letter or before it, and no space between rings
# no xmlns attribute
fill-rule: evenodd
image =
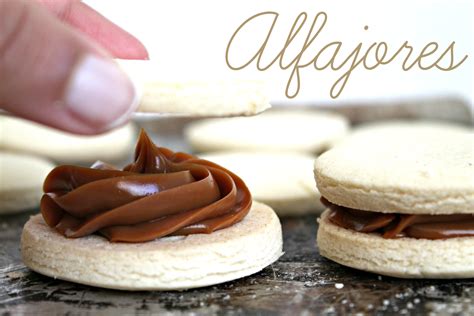
<svg viewBox="0 0 474 316"><path fill-rule="evenodd" d="M103 130L124 123L138 105L128 76L113 61L94 55L82 58L75 67L64 101L73 115Z"/></svg>

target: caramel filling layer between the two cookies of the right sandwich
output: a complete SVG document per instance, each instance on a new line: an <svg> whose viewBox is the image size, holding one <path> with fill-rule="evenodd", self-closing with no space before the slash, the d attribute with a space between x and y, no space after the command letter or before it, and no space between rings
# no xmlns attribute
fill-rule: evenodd
<svg viewBox="0 0 474 316"><path fill-rule="evenodd" d="M380 233L383 238L447 239L474 236L474 216L471 214L377 213L335 205L325 198L321 198L321 202L330 209L331 223L361 233Z"/></svg>

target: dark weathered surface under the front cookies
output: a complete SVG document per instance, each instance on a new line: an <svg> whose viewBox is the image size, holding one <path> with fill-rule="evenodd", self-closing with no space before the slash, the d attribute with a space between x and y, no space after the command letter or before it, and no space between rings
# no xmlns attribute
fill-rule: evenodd
<svg viewBox="0 0 474 316"><path fill-rule="evenodd" d="M31 214L0 217L2 315L474 314L474 280L399 280L322 258L315 247L315 216L282 220L285 255L253 276L184 292L123 292L28 270L19 240Z"/></svg>

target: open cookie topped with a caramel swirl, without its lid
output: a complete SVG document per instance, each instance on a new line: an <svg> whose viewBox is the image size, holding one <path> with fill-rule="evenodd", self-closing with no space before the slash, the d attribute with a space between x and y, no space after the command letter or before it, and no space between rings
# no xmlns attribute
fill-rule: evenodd
<svg viewBox="0 0 474 316"><path fill-rule="evenodd" d="M143 131L122 170L59 166L44 192L21 253L26 266L54 278L180 290L253 274L282 255L278 217L252 203L237 175L156 147Z"/></svg>

